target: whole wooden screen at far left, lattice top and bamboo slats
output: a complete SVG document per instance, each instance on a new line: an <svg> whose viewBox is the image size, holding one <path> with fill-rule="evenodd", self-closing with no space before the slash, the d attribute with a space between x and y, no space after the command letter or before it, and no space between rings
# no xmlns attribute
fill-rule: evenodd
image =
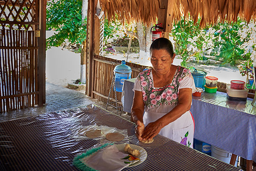
<svg viewBox="0 0 256 171"><path fill-rule="evenodd" d="M39 4L0 0L0 112L38 104Z"/></svg>

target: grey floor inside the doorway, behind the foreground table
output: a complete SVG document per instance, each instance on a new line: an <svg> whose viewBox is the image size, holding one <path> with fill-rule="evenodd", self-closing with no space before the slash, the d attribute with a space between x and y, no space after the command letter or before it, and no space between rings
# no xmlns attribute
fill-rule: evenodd
<svg viewBox="0 0 256 171"><path fill-rule="evenodd" d="M44 104L43 107L36 106L0 113L0 122L19 119L27 116L36 116L42 113L49 113L73 107L87 106L89 104L96 104L99 107L104 109L106 108L105 103L97 99L92 99L86 96L84 93L46 82L46 104ZM120 112L116 112L116 109L113 107L108 107L108 110L112 113L120 115ZM121 116L130 120L130 116L123 112Z"/></svg>

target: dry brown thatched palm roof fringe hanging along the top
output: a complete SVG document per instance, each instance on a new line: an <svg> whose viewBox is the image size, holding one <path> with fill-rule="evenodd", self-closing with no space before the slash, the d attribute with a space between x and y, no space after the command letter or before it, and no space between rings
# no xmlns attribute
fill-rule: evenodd
<svg viewBox="0 0 256 171"><path fill-rule="evenodd" d="M156 23L161 0L100 0L108 20L117 18L122 22L141 21L146 25ZM237 17L249 22L256 21L256 0L172 0L173 18L192 17L200 26L219 21L236 22Z"/></svg>

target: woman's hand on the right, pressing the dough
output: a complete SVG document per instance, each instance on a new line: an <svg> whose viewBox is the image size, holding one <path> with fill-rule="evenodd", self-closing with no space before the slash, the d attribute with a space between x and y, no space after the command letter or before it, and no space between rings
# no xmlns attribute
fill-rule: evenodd
<svg viewBox="0 0 256 171"><path fill-rule="evenodd" d="M162 127L160 122L151 122L146 126L144 133L141 137L143 138L143 140L152 139L160 132L161 129Z"/></svg>

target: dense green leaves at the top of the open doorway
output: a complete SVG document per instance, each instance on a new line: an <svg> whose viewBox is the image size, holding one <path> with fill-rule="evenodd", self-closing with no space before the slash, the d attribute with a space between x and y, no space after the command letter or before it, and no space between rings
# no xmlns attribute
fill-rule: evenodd
<svg viewBox="0 0 256 171"><path fill-rule="evenodd" d="M47 3L47 29L56 32L47 39L47 48L61 46L67 39L81 44L86 39L86 25L81 21L81 0L58 0Z"/></svg>

